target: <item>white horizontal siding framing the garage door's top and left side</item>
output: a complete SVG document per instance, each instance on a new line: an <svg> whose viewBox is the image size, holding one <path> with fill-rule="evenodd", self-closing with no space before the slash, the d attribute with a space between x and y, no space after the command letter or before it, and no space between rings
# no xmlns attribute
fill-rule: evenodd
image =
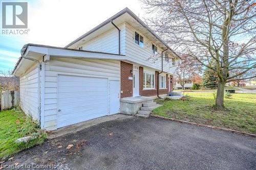
<svg viewBox="0 0 256 170"><path fill-rule="evenodd" d="M57 128L58 75L106 78L120 81L120 61L54 58L45 65L45 124L47 130Z"/></svg>

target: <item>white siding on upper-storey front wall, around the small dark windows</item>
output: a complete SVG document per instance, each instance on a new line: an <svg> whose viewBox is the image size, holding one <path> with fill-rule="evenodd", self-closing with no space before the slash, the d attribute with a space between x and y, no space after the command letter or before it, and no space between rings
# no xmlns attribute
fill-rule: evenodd
<svg viewBox="0 0 256 170"><path fill-rule="evenodd" d="M135 63L138 63L143 66L151 67L157 70L161 70L161 59L157 61L148 60L151 56L153 56L152 52L152 42L142 33L138 32L141 36L143 36L143 48L135 43L135 31L131 25L126 23L126 44L125 44L125 56L126 59ZM158 48L158 55L161 55L161 48ZM163 71L174 74L176 67L170 64L167 61L163 61Z"/></svg>

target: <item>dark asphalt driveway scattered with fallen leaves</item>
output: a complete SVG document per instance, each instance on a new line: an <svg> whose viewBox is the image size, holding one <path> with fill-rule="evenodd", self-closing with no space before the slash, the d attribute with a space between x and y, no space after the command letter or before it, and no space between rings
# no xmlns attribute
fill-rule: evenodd
<svg viewBox="0 0 256 170"><path fill-rule="evenodd" d="M256 138L131 117L49 140L3 165L15 163L35 169L256 169Z"/></svg>

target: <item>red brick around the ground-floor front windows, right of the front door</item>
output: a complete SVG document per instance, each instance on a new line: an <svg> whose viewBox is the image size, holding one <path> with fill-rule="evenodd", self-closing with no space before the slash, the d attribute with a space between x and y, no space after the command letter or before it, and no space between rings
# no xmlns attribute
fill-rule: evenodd
<svg viewBox="0 0 256 170"><path fill-rule="evenodd" d="M140 79L140 95L142 96L154 96L157 95L157 87L158 83L158 71L155 72L155 85L156 89L154 90L143 90L143 67L139 68L139 79ZM168 93L168 78L166 75L166 87L167 89L159 89L159 94L167 94Z"/></svg>

